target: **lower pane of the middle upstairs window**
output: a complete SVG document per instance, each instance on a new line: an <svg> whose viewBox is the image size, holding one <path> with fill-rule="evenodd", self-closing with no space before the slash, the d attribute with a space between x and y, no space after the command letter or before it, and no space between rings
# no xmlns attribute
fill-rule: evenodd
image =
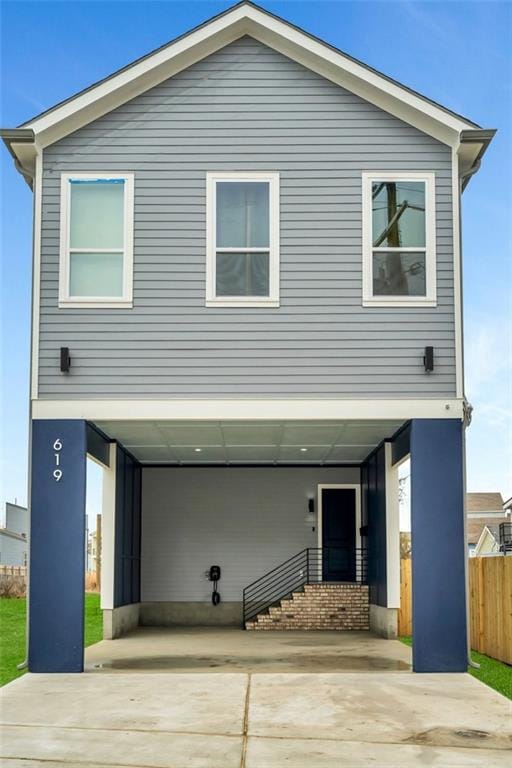
<svg viewBox="0 0 512 768"><path fill-rule="evenodd" d="M217 296L268 296L268 253L218 253Z"/></svg>

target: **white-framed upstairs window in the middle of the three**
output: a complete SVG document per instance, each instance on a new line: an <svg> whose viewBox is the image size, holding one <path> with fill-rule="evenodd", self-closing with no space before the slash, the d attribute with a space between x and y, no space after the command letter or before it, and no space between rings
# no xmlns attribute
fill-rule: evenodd
<svg viewBox="0 0 512 768"><path fill-rule="evenodd" d="M206 305L279 306L279 174L207 174Z"/></svg>

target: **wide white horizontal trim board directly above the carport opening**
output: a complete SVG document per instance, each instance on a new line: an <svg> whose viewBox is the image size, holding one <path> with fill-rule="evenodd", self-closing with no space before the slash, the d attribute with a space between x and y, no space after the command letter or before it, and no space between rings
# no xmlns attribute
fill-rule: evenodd
<svg viewBox="0 0 512 768"><path fill-rule="evenodd" d="M463 400L34 400L33 419L364 420L462 419Z"/></svg>

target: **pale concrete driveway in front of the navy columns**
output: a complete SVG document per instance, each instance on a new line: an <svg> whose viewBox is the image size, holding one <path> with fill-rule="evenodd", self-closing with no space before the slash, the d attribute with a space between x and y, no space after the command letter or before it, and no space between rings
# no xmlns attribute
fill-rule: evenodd
<svg viewBox="0 0 512 768"><path fill-rule="evenodd" d="M465 674L103 669L27 674L6 686L2 766L493 768L512 760L510 702Z"/></svg>

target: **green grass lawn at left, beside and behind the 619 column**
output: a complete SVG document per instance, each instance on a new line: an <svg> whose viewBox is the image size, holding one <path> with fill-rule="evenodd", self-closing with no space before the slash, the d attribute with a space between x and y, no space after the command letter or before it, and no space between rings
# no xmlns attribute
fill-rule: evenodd
<svg viewBox="0 0 512 768"><path fill-rule="evenodd" d="M0 598L0 685L25 672L16 665L25 659L26 602L25 598ZM85 645L97 643L102 637L100 596L89 592L85 595Z"/></svg>

